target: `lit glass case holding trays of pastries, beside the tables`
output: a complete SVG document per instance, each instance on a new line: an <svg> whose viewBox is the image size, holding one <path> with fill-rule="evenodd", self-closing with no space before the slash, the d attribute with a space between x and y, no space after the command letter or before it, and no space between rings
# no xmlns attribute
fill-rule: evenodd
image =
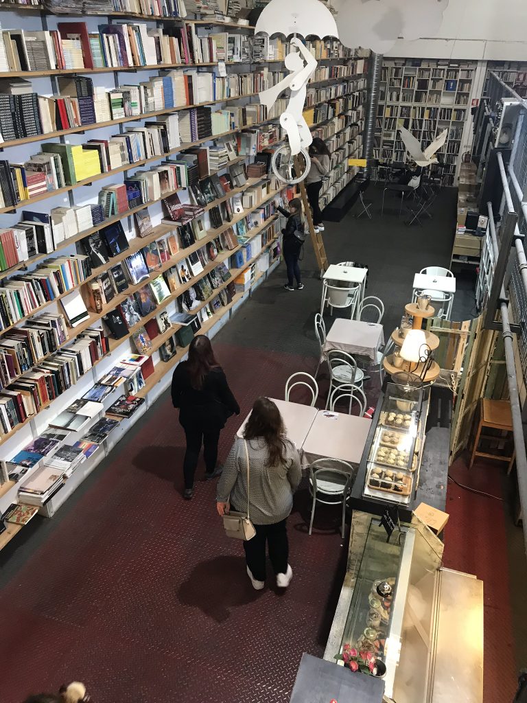
<svg viewBox="0 0 527 703"><path fill-rule="evenodd" d="M363 496L408 505L419 484L427 389L389 383L365 465Z"/></svg>

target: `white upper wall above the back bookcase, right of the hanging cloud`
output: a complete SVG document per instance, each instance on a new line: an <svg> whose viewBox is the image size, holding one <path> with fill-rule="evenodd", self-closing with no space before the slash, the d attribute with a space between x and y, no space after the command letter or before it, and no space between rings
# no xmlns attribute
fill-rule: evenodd
<svg viewBox="0 0 527 703"><path fill-rule="evenodd" d="M527 2L450 0L434 39L399 39L386 56L526 61Z"/></svg>

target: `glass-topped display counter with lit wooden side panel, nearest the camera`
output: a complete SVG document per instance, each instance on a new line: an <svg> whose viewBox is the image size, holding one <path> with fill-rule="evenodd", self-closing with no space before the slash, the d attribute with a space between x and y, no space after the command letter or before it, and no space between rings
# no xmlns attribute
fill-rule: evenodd
<svg viewBox="0 0 527 703"><path fill-rule="evenodd" d="M415 516L386 542L377 517L354 512L324 659L344 666L345 645L371 652L386 668L384 700L481 703L483 583L445 569L442 554Z"/></svg>

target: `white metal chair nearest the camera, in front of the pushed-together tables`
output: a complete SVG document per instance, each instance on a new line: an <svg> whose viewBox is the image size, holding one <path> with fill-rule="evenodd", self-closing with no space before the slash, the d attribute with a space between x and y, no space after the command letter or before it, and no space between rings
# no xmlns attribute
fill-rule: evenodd
<svg viewBox="0 0 527 703"><path fill-rule="evenodd" d="M313 498L309 534L313 530L313 520L317 503L324 505L342 504L341 537L344 537L346 523L346 501L355 479L355 469L346 461L323 458L313 461L309 467L309 494Z"/></svg>

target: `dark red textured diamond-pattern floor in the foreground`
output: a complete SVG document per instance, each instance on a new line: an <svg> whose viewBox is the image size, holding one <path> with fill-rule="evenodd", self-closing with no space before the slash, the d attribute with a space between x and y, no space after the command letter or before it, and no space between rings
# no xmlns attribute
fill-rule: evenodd
<svg viewBox="0 0 527 703"><path fill-rule="evenodd" d="M312 358L258 349L217 351L242 415L256 395L281 397L290 373L313 366ZM239 422L223 431L221 458ZM95 703L289 700L301 654L323 652L339 595L338 511L317 512L309 537L301 488L289 520L292 584L279 595L269 580L256 593L241 545L222 534L215 486L199 482L195 499L182 500L183 451L164 399L1 591L1 703L72 679L86 682ZM467 476L459 465L454 474L472 483L485 477L483 490L499 494L495 469ZM446 565L485 582L485 702L509 703L503 507L450 484L447 510ZM453 667L461 671L462 662Z"/></svg>

